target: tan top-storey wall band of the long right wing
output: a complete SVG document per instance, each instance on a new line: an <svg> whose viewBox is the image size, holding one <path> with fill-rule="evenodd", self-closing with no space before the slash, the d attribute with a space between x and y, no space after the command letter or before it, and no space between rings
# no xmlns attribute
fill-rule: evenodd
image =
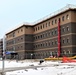
<svg viewBox="0 0 76 75"><path fill-rule="evenodd" d="M42 23L37 24L34 27L35 28L34 34L57 27L59 18L61 20L61 25L64 25L64 24L67 24L67 23L71 22L71 14L72 14L72 11L68 11L66 13L55 16L53 18L50 18L49 20L46 20ZM68 18L66 18L67 16L68 16ZM62 17L64 17L64 21L62 21Z"/></svg>

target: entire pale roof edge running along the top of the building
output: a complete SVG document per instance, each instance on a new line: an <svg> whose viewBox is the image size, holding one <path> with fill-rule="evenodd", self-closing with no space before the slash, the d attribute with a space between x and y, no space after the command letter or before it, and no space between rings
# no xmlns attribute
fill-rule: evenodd
<svg viewBox="0 0 76 75"><path fill-rule="evenodd" d="M56 15L59 15L59 14L61 14L61 13L64 13L64 12L66 12L66 11L68 11L68 10L76 10L76 5L68 4L68 5L66 5L65 7L61 8L60 10L58 10L58 11L56 11L56 12L53 12L53 13L45 16L44 18L39 19L38 21L35 21L35 22L33 22L33 23L24 22L24 23L22 23L22 24L20 24L20 25L17 25L17 26L14 27L14 28L12 28L12 29L9 30L6 34L9 34L9 33L11 33L12 31L14 31L14 30L16 30L16 29L18 29L18 28L20 28L20 27L22 27L22 26L24 26L24 25L25 25L25 26L35 26L35 25L37 25L37 24L39 24L39 23L41 23L41 22L43 22L43 21L46 21L47 19L50 19L50 18L52 18L52 17L54 17L54 16L56 16Z"/></svg>

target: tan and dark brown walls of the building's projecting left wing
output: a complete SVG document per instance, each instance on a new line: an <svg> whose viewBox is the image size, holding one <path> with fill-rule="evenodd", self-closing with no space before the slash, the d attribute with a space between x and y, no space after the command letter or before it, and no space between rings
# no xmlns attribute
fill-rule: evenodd
<svg viewBox="0 0 76 75"><path fill-rule="evenodd" d="M26 52L33 50L33 28L30 26L22 26L9 34L7 38L7 51L18 54L19 59L26 58ZM7 55L9 58L9 55ZM15 57L16 58L16 57Z"/></svg>

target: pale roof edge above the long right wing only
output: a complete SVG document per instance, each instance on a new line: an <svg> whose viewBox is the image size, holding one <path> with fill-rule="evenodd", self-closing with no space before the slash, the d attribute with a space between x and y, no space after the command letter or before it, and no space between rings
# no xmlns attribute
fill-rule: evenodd
<svg viewBox="0 0 76 75"><path fill-rule="evenodd" d="M37 24L39 24L39 23L42 23L42 22L44 22L44 21L46 21L48 19L51 19L51 18L53 18L53 17L55 17L57 15L60 15L60 14L65 13L67 11L70 11L70 10L76 10L76 6L68 4L65 7L63 7L61 9L59 9L59 10L57 10L57 11L55 11L55 12L53 12L53 13L47 15L47 16L45 16L44 18L42 18L42 19L34 22L34 26L37 25Z"/></svg>

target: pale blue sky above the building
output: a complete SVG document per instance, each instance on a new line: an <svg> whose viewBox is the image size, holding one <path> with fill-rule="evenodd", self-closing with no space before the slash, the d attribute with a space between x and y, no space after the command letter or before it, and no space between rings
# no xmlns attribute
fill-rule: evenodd
<svg viewBox="0 0 76 75"><path fill-rule="evenodd" d="M35 22L76 0L0 0L0 38L23 22Z"/></svg>

